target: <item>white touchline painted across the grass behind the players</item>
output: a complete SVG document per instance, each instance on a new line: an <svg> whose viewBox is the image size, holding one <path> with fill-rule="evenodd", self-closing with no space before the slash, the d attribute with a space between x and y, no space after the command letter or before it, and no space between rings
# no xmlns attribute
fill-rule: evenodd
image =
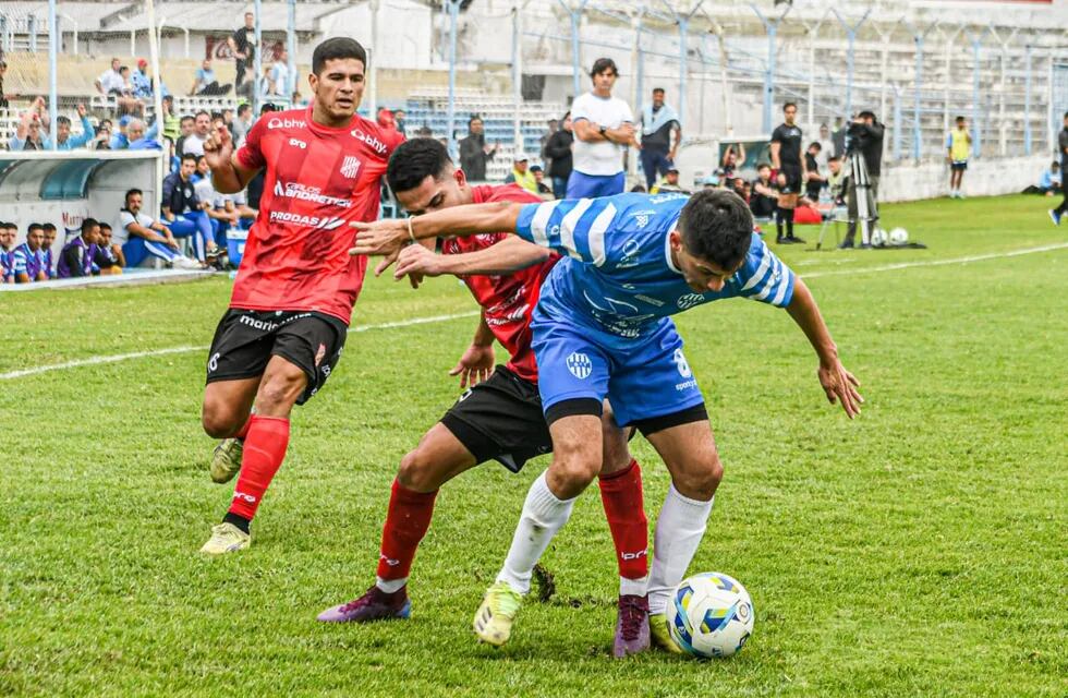
<svg viewBox="0 0 1068 698"><path fill-rule="evenodd" d="M802 278L811 279L823 276L849 276L857 274L876 274L879 272L896 272L898 269L908 269L911 267L920 266L946 266L950 264L969 264L971 262L983 262L986 260L1003 260L1006 257L1018 257L1024 254L1036 254L1040 252L1051 252L1054 250L1068 249L1068 242L1058 242L1053 244L1040 245L1037 248L1023 248L1022 250L1009 250L1008 252L991 252L988 254L973 254L963 257L952 257L949 260L922 260L919 262L900 262L898 264L885 264L883 266L870 266L864 268L854 269L834 269L829 272L812 272L811 274L802 275ZM366 332L368 329L390 329L393 327L411 327L413 325L425 325L429 323L441 323L448 322L450 320L458 320L460 317L474 317L477 315L477 311L471 311L468 313L456 313L452 315L432 315L429 317L413 317L412 320L401 320L392 323L380 323L377 325L363 325L360 327L354 327L351 332ZM92 359L80 359L76 361L65 361L63 363L54 363L47 366L36 366L34 369L21 369L19 371L9 371L8 373L0 373L0 381L10 381L12 378L21 378L27 375L36 375L38 373L47 373L49 371L61 371L64 369L76 369L78 366L89 366L97 365L101 363L114 363L117 361L125 361L128 359L141 359L143 357L158 357L168 353L185 353L189 351L207 351L206 346L199 347L169 347L165 349L154 349L151 351L135 351L132 353L120 353L110 357L94 357Z"/></svg>

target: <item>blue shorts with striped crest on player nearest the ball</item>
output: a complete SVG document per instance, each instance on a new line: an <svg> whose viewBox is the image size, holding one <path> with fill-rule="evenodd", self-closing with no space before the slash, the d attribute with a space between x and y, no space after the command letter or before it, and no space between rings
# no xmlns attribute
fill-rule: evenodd
<svg viewBox="0 0 1068 698"><path fill-rule="evenodd" d="M607 397L626 426L704 404L670 320L628 340L539 315L535 311L531 329L544 411L565 400Z"/></svg>

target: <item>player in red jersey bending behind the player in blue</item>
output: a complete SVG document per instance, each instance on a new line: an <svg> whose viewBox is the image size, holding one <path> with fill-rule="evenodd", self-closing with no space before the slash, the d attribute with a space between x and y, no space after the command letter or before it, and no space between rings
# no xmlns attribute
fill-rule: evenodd
<svg viewBox="0 0 1068 698"><path fill-rule="evenodd" d="M515 185L471 186L445 146L433 139L414 139L397 148L387 181L413 215L470 203L542 201ZM401 253L397 278L409 275L417 282L422 276L453 274L482 306L471 347L450 372L460 375L461 388L469 380L472 388L401 460L383 528L375 585L359 599L324 611L320 621L409 617L409 570L430 525L438 489L486 460L495 459L519 472L527 459L551 449L537 390L530 321L542 281L558 258L507 233L451 238L442 243L440 255L417 244ZM510 354L509 362L496 369L494 339ZM620 573L614 653L623 657L648 645L648 527L641 468L628 452L627 434L609 417L604 437L600 492Z"/></svg>

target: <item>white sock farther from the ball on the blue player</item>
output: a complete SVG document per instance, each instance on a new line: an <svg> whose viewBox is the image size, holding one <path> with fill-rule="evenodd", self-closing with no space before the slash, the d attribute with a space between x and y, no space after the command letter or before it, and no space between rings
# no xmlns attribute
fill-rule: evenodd
<svg viewBox="0 0 1068 698"><path fill-rule="evenodd" d="M512 546L508 549L505 566L497 575L497 581L507 581L519 593L531 590L531 576L534 565L542 553L549 546L556 532L568 522L574 501L558 500L545 483L545 473L538 476L523 503L523 514L512 537Z"/></svg>

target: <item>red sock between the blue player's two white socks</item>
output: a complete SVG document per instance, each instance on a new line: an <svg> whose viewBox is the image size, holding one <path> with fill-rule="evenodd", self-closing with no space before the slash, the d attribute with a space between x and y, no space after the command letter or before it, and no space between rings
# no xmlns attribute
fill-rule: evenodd
<svg viewBox="0 0 1068 698"><path fill-rule="evenodd" d="M642 469L632 459L623 470L602 476L599 483L600 501L616 543L619 576L641 579L648 574L648 519L642 497Z"/></svg>

